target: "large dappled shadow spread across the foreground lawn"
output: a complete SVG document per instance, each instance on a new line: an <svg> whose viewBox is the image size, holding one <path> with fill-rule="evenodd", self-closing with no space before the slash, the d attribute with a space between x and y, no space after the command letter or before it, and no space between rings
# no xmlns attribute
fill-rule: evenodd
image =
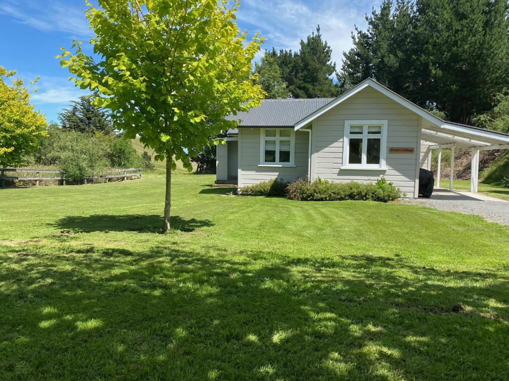
<svg viewBox="0 0 509 381"><path fill-rule="evenodd" d="M213 247L9 250L2 379L509 376L503 273Z"/></svg>

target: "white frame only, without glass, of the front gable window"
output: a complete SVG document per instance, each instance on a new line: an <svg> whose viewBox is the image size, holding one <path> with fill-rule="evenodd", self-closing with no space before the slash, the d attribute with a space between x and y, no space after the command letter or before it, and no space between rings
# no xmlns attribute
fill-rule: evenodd
<svg viewBox="0 0 509 381"><path fill-rule="evenodd" d="M363 126L362 134L350 134L350 126L361 124ZM380 164L366 164L367 161L367 139L377 138L379 135L367 134L367 126L373 124L382 125L382 135L380 137ZM361 164L349 164L350 139L362 139L362 160ZM343 169L371 169L386 170L385 162L387 156L387 120L345 120L345 131L343 137Z"/></svg>

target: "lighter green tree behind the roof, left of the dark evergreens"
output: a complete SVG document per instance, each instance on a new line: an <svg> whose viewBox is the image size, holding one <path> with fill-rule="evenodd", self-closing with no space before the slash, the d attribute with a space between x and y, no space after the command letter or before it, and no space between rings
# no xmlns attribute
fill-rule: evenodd
<svg viewBox="0 0 509 381"><path fill-rule="evenodd" d="M281 77L281 69L277 65L276 58L271 53L265 52L262 60L254 63L254 72L258 74L257 84L262 86L268 98L288 98L288 84Z"/></svg>

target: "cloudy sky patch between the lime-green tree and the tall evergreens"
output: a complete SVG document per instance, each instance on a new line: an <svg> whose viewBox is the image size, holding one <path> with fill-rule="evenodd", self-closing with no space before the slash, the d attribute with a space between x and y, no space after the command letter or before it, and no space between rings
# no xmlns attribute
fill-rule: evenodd
<svg viewBox="0 0 509 381"><path fill-rule="evenodd" d="M259 31L267 39L264 49L298 50L300 40L310 35L320 24L322 38L332 48L336 69L342 65L343 51L352 47L351 32L355 25L365 28L364 15L378 7L379 0L310 1L243 0L237 14L242 27L250 33Z"/></svg>

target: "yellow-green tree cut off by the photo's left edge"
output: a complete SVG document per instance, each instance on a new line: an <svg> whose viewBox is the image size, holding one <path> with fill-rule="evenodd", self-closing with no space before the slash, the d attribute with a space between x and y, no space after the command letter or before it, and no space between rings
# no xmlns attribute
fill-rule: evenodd
<svg viewBox="0 0 509 381"><path fill-rule="evenodd" d="M0 66L0 167L17 166L32 154L47 136L46 119L31 106L29 88L22 79ZM37 80L30 84L34 85Z"/></svg>

